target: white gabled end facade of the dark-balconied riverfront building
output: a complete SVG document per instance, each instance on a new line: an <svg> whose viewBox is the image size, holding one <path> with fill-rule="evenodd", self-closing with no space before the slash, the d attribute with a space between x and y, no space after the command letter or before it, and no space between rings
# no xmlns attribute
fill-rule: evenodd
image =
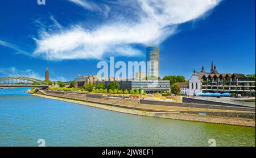
<svg viewBox="0 0 256 158"><path fill-rule="evenodd" d="M196 95L196 93L201 93L201 80L197 76L196 72L193 72L189 81L188 95Z"/></svg>

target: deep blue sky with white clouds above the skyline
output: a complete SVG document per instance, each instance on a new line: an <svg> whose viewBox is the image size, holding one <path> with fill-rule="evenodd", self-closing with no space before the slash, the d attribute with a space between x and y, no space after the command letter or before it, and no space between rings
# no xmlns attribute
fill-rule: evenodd
<svg viewBox="0 0 256 158"><path fill-rule="evenodd" d="M160 76L193 69L255 73L255 1L3 0L0 77L73 80L97 74L99 61L144 61L160 48Z"/></svg>

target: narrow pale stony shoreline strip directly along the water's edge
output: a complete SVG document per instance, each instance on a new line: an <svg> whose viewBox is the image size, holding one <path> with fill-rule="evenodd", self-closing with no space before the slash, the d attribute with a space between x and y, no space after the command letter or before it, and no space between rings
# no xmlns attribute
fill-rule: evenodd
<svg viewBox="0 0 256 158"><path fill-rule="evenodd" d="M203 116L203 115L196 115L196 114L183 114L183 113L177 113L175 111L174 112L148 112L148 111L142 111L142 110L127 109L124 107L103 105L101 103L92 103L92 102L85 102L85 101L77 101L75 99L53 97L53 96L49 96L49 95L45 95L45 94L35 94L34 93L31 95L34 95L37 97L48 98L48 99L55 99L55 100L59 100L59 101L77 103L80 105L85 105L85 106L90 106L90 107L97 107L99 109L116 111L119 113L140 115L140 116L144 116L144 117L167 118L167 119L176 119L176 120L187 120L187 121L193 121L193 122L205 122L205 123L217 123L217 124L229 124L229 125L236 125L236 126L255 127L254 119Z"/></svg>

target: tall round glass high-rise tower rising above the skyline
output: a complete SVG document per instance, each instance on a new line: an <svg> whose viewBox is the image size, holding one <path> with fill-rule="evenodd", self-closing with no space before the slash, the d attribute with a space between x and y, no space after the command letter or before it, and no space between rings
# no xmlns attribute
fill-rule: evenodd
<svg viewBox="0 0 256 158"><path fill-rule="evenodd" d="M159 77L159 48L147 47L146 49L147 76Z"/></svg>

